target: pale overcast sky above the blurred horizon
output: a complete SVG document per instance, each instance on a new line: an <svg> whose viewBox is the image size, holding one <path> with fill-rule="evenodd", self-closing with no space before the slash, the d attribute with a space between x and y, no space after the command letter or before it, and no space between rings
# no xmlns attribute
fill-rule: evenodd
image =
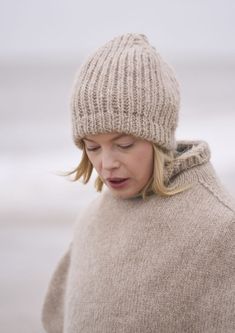
<svg viewBox="0 0 235 333"><path fill-rule="evenodd" d="M234 0L0 1L0 61L70 61L126 32L163 55L235 55Z"/></svg>

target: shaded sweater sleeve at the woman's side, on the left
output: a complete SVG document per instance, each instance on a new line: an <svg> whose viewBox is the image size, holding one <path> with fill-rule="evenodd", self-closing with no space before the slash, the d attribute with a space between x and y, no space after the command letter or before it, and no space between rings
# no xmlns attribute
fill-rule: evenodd
<svg viewBox="0 0 235 333"><path fill-rule="evenodd" d="M72 242L59 260L51 277L43 307L41 320L47 333L62 333L67 276L70 267Z"/></svg>

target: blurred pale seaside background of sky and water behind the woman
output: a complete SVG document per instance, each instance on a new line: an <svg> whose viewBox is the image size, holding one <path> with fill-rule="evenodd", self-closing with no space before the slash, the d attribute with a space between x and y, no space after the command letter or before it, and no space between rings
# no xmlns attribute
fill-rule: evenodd
<svg viewBox="0 0 235 333"><path fill-rule="evenodd" d="M69 96L81 62L113 37L144 33L181 83L177 139L209 143L235 196L233 0L0 0L0 327L43 332L51 274L98 194L75 168Z"/></svg>

